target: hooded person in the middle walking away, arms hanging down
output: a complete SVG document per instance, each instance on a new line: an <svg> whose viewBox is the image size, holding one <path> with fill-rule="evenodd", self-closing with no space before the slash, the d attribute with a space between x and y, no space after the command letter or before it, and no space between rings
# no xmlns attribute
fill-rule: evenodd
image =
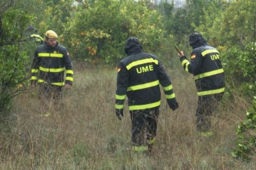
<svg viewBox="0 0 256 170"><path fill-rule="evenodd" d="M169 107L176 110L179 106L158 57L143 52L137 38L128 38L124 51L128 56L121 60L117 69L116 116L122 118L127 95L132 120L132 150L151 152L161 104L160 84Z"/></svg>

